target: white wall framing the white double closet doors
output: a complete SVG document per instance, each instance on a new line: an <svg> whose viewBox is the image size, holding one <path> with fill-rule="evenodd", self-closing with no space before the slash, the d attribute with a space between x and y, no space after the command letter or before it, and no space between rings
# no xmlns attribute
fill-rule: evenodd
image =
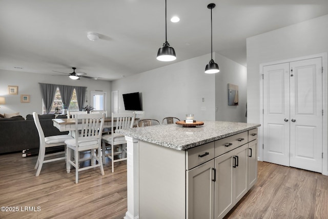
<svg viewBox="0 0 328 219"><path fill-rule="evenodd" d="M328 15L324 15L247 39L248 122L261 122L260 64L327 52L327 27ZM261 146L259 156L262 160ZM327 155L324 157L326 160Z"/></svg>

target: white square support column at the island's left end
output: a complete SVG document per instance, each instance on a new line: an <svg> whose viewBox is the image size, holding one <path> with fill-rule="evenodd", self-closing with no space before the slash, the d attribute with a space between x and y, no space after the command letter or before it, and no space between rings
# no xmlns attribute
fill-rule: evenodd
<svg viewBox="0 0 328 219"><path fill-rule="evenodd" d="M128 211L124 219L139 219L139 141L126 136Z"/></svg>

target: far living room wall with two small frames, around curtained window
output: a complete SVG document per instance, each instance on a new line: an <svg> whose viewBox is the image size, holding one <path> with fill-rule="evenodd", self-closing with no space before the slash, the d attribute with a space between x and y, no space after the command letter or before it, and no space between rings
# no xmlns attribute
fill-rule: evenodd
<svg viewBox="0 0 328 219"><path fill-rule="evenodd" d="M88 91L88 103L85 103L85 105L90 104L90 91L102 90L107 92L107 110L110 112L110 81L91 80L86 78L73 81L65 76L0 70L0 96L6 98L6 104L0 106L0 114L19 112L24 118L26 118L26 115L32 114L32 112L42 114L42 96L38 83L86 86ZM18 86L18 95L9 95L8 85ZM20 103L21 94L30 95L30 103Z"/></svg>

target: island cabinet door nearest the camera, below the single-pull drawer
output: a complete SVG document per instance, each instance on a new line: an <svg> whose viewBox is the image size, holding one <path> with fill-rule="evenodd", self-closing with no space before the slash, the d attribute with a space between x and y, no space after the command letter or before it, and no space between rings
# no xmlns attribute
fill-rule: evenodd
<svg viewBox="0 0 328 219"><path fill-rule="evenodd" d="M213 218L214 160L187 171L187 218ZM217 174L216 174L217 178Z"/></svg>

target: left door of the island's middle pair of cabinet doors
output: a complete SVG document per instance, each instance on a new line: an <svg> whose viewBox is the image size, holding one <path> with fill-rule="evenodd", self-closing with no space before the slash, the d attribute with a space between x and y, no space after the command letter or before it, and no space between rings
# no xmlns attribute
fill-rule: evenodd
<svg viewBox="0 0 328 219"><path fill-rule="evenodd" d="M216 169L214 218L223 218L234 206L233 151L214 160Z"/></svg>

